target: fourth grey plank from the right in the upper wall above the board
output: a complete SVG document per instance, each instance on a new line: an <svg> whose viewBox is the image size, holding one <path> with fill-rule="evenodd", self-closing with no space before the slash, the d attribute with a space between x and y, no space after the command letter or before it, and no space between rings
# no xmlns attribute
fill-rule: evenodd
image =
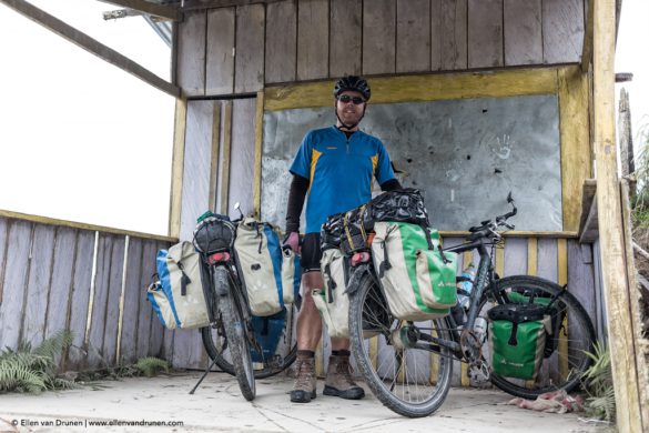
<svg viewBox="0 0 649 433"><path fill-rule="evenodd" d="M442 70L467 68L467 0L442 0Z"/></svg>

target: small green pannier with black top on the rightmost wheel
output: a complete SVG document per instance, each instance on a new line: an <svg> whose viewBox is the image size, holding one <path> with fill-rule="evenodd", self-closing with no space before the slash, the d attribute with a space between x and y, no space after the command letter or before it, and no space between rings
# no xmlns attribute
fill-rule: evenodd
<svg viewBox="0 0 649 433"><path fill-rule="evenodd" d="M546 306L505 304L494 306L489 316L489 350L494 374L535 380L551 333Z"/></svg>

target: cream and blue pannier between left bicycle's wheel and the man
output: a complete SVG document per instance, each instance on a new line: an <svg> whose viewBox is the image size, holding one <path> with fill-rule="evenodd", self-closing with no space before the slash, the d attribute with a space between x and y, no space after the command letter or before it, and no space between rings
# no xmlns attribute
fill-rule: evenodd
<svg viewBox="0 0 649 433"><path fill-rule="evenodd" d="M282 249L278 229L246 218L236 228L234 251L253 315L273 315L300 291L300 262Z"/></svg>

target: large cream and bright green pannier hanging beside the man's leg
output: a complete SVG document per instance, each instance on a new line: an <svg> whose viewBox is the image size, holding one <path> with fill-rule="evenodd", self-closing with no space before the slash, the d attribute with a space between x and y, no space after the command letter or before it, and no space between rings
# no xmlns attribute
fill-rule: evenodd
<svg viewBox="0 0 649 433"><path fill-rule="evenodd" d="M376 222L374 231L372 256L391 313L413 321L449 314L457 254L442 252L439 232L405 222Z"/></svg>

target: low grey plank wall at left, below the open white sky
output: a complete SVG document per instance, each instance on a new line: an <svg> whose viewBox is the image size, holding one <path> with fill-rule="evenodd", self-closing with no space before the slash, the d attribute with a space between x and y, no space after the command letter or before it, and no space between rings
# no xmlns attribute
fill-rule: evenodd
<svg viewBox="0 0 649 433"><path fill-rule="evenodd" d="M0 216L0 346L36 346L60 330L74 343L64 370L172 354L145 300L155 254L169 241ZM81 224L80 224L81 225Z"/></svg>

